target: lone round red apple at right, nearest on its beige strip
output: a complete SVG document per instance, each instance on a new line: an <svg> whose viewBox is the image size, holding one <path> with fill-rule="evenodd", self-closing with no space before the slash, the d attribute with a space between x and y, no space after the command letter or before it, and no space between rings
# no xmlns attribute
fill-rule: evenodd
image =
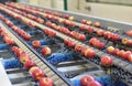
<svg viewBox="0 0 132 86"><path fill-rule="evenodd" d="M102 66L111 66L112 63L113 63L112 57L110 57L108 55L101 57L101 65Z"/></svg>

